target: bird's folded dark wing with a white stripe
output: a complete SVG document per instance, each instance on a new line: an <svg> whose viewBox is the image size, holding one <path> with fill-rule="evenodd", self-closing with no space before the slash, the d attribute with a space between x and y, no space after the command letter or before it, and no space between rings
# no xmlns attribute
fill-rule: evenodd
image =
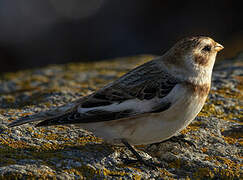
<svg viewBox="0 0 243 180"><path fill-rule="evenodd" d="M80 101L79 106L37 126L94 123L157 113L171 105L166 97L179 81L150 61Z"/></svg>

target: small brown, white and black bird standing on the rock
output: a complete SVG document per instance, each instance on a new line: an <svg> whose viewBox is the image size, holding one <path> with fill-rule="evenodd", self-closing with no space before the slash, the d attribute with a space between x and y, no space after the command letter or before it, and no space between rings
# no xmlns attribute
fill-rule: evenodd
<svg viewBox="0 0 243 180"><path fill-rule="evenodd" d="M132 146L167 140L195 119L210 91L216 55L223 48L210 37L186 37L96 92L8 127L35 121L40 121L36 127L75 124L108 143L125 145L146 164Z"/></svg>

